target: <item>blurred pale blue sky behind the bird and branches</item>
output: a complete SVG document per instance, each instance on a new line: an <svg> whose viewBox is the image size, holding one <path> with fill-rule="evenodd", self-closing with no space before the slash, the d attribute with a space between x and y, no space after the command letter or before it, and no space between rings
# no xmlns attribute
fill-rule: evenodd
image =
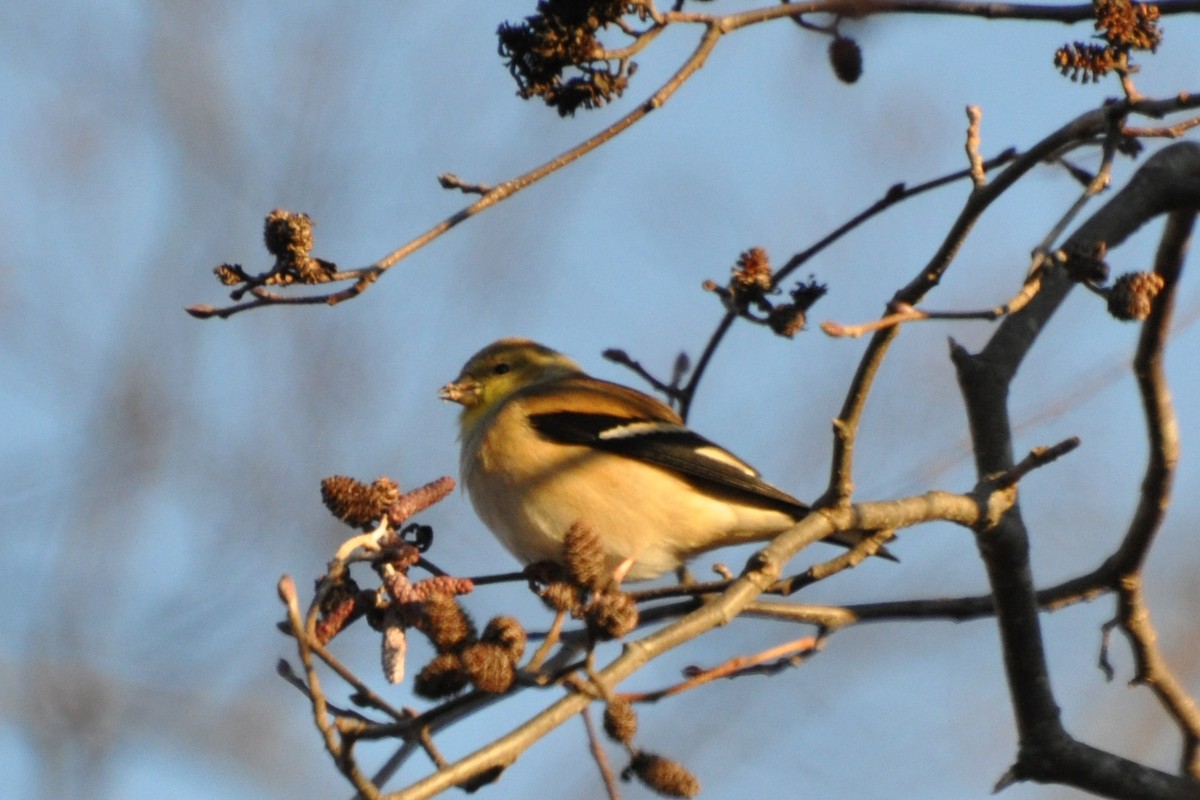
<svg viewBox="0 0 1200 800"><path fill-rule="evenodd" d="M703 6L722 7L740 6ZM302 698L274 674L290 655L274 630L275 582L287 572L307 587L344 531L319 504L323 476L413 487L454 475L455 413L437 387L500 336L538 338L610 379L636 380L600 359L610 347L666 373L719 318L703 279L724 279L751 246L782 263L892 184L961 168L967 104L983 108L983 149L994 154L1030 146L1116 91L1050 66L1055 47L1090 34L1082 25L847 23L864 49L854 86L830 73L824 40L786 22L748 29L665 108L362 297L226 321L182 313L223 301L214 265L266 266L271 209L312 215L318 255L368 264L466 204L437 174L497 182L546 161L648 96L697 35L668 31L638 59L624 100L560 120L516 98L496 55L496 26L532 11L367 0L0 10L0 775L13 796L348 796ZM1138 86L1195 91L1200 29L1187 18L1164 26ZM1118 164L1117 185L1130 170ZM804 275L830 288L814 319L875 317L936 248L966 191L904 204L814 261ZM1062 172L1031 175L980 222L930 305L1007 299L1076 191ZM1115 253L1115 270L1144 269L1158 228ZM1183 323L1200 309L1193 284ZM946 339L978 347L989 330L928 324L900 337L864 422L862 499L971 487ZM1148 576L1166 652L1200 690L1188 610L1196 336L1182 324L1169 354L1184 462ZM1019 449L1084 439L1022 486L1039 583L1094 566L1133 507L1145 445L1120 367L1135 337L1094 299L1072 297L1014 387L1014 417L1028 422ZM774 482L818 494L829 420L862 348L815 326L792 342L738 326L691 422ZM461 494L424 521L443 566L511 569ZM901 566L864 565L805 600L983 587L962 531L912 530L895 549ZM744 557L721 554L733 566ZM481 590L468 604L484 619L520 609L530 626L547 621L516 589ZM1124 649L1112 684L1094 667L1109 615L1099 601L1045 618L1064 717L1092 744L1171 769L1177 736L1147 692L1123 685ZM631 687L802 633L739 621ZM380 682L368 631L338 646ZM998 664L986 621L864 626L800 669L646 709L640 741L684 760L704 796L984 798L1014 753ZM416 704L395 691L396 703ZM529 693L439 744L466 753L546 702ZM565 782L560 796L600 790L572 723L493 795L529 796L550 770ZM1006 795L1074 796L1030 786ZM648 794L628 787L626 796Z"/></svg>

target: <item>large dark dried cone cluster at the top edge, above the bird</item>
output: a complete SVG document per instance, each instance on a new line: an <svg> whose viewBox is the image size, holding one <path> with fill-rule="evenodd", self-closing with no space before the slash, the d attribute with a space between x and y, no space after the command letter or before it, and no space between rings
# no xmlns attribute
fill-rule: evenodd
<svg viewBox="0 0 1200 800"><path fill-rule="evenodd" d="M538 13L502 24L500 55L517 95L541 97L559 116L620 97L636 65L608 58L596 35L629 13L644 18L646 8L620 0L541 0ZM568 77L570 70L575 74Z"/></svg>

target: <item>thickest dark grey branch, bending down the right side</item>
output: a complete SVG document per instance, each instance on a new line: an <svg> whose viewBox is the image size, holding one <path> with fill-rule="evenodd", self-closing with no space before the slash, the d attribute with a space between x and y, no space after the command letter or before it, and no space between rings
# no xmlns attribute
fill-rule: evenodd
<svg viewBox="0 0 1200 800"><path fill-rule="evenodd" d="M1068 252L1091 252L1121 243L1150 217L1200 205L1200 145L1180 144L1156 154L1126 186L1068 240ZM980 475L1012 468L1008 383L1038 331L1070 289L1064 270L1050 270L1042 290L1021 312L1008 317L984 350L955 350L977 468ZM1019 511L1007 512L980 533L979 548L996 601L1004 664L1021 747L1012 780L1064 781L1110 796L1192 796L1195 786L1157 774L1074 741L1066 733L1045 666L1038 602L1028 563L1028 539Z"/></svg>

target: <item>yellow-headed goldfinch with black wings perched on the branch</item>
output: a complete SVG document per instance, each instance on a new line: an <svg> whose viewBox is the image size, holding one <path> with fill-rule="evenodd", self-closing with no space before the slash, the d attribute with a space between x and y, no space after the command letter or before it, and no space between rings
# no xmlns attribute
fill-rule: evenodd
<svg viewBox="0 0 1200 800"><path fill-rule="evenodd" d="M642 581L809 512L664 403L529 339L487 345L439 397L463 407L460 471L475 512L526 564L562 563L582 523L618 581Z"/></svg>

